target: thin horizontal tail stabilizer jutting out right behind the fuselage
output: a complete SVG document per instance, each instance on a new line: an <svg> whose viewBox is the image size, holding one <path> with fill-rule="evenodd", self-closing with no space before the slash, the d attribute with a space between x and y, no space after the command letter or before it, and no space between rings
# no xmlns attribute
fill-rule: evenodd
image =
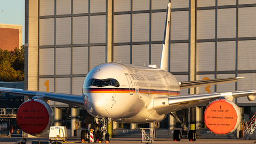
<svg viewBox="0 0 256 144"><path fill-rule="evenodd" d="M180 84L180 89L188 89L191 87L237 82L237 80L241 79L241 78L244 78L244 77L206 79L206 80L201 80L201 81L179 82L179 84Z"/></svg>

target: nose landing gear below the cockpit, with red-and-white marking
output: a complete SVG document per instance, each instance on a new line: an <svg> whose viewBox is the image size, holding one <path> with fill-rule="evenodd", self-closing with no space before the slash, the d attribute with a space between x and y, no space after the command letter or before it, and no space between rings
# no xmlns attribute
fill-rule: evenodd
<svg viewBox="0 0 256 144"><path fill-rule="evenodd" d="M89 115L86 115L90 117ZM87 118L88 118L87 117ZM97 141L108 141L110 142L109 133L107 133L107 121L111 121L111 118L95 118L94 121L91 121L93 117L91 116L89 121L86 123L90 123L88 125L88 130L81 131L81 140L90 142L97 142ZM101 126L100 126L101 123Z"/></svg>

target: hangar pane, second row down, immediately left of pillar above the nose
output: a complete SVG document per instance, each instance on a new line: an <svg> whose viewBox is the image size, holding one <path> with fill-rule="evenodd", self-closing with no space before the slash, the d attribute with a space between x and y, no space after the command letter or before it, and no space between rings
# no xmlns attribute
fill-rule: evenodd
<svg viewBox="0 0 256 144"><path fill-rule="evenodd" d="M91 16L91 43L106 43L106 15Z"/></svg>

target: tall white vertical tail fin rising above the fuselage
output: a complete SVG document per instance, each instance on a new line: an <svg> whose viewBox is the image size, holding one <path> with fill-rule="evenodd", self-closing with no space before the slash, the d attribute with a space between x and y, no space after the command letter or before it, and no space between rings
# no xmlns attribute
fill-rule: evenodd
<svg viewBox="0 0 256 144"><path fill-rule="evenodd" d="M168 65L170 24L171 24L171 3L168 3L167 11L166 11L162 55L161 55L161 62L160 62L160 69L163 69L163 70L167 70L168 68L167 65Z"/></svg>

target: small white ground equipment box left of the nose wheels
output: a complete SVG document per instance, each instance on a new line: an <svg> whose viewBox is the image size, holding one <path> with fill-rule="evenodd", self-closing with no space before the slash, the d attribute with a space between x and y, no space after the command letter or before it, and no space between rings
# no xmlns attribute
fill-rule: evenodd
<svg viewBox="0 0 256 144"><path fill-rule="evenodd" d="M61 139L62 138L62 139ZM66 126L51 126L50 133L49 133L49 140L52 141L58 140L63 141L67 140L68 134L67 134L67 127Z"/></svg>

